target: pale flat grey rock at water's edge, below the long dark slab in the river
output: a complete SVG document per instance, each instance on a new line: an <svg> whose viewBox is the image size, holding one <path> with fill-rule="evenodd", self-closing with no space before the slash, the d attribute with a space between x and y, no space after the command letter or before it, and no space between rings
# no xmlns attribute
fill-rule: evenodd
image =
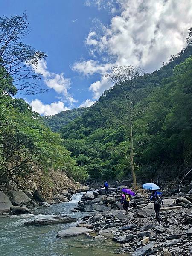
<svg viewBox="0 0 192 256"><path fill-rule="evenodd" d="M69 237L69 236L79 236L81 234L92 232L92 230L86 227L70 227L65 230L61 230L57 233L57 237Z"/></svg>

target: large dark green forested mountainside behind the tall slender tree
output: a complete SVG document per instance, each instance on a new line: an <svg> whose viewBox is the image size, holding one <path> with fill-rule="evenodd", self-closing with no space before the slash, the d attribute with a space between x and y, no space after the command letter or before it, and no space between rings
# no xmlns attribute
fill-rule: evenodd
<svg viewBox="0 0 192 256"><path fill-rule="evenodd" d="M192 46L137 81L134 168L152 178L160 169L178 175L191 165ZM125 84L125 91L128 91ZM64 146L91 178L118 179L130 173L130 136L125 97L117 85L61 129ZM169 175L167 178L169 179Z"/></svg>

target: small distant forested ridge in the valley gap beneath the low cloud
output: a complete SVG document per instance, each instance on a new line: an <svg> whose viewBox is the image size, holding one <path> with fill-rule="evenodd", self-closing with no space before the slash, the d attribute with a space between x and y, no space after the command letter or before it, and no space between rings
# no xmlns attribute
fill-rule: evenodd
<svg viewBox="0 0 192 256"><path fill-rule="evenodd" d="M54 116L42 116L43 122L51 128L52 131L59 131L61 127L67 125L78 116L87 111L87 108L73 108L72 110L62 111Z"/></svg>

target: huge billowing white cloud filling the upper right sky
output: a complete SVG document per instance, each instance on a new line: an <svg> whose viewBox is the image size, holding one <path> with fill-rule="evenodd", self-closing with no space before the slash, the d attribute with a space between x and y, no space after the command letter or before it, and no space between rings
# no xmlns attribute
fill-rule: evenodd
<svg viewBox="0 0 192 256"><path fill-rule="evenodd" d="M109 67L133 64L152 72L186 46L192 24L191 0L86 1L87 6L91 4L111 12L110 25L100 26L100 34L98 26L91 29L86 40L92 56L98 56L100 62L79 61L73 70L85 75L101 74L100 81L90 86L95 99L108 88L104 74Z"/></svg>

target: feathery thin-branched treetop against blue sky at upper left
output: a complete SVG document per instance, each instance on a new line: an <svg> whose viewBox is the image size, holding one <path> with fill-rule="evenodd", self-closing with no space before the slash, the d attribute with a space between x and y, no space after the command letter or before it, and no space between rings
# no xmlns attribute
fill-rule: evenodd
<svg viewBox="0 0 192 256"><path fill-rule="evenodd" d="M46 55L23 44L29 32L26 12L0 18L0 81L12 76L16 91L35 94L44 90L37 83L41 77L34 68Z"/></svg>

